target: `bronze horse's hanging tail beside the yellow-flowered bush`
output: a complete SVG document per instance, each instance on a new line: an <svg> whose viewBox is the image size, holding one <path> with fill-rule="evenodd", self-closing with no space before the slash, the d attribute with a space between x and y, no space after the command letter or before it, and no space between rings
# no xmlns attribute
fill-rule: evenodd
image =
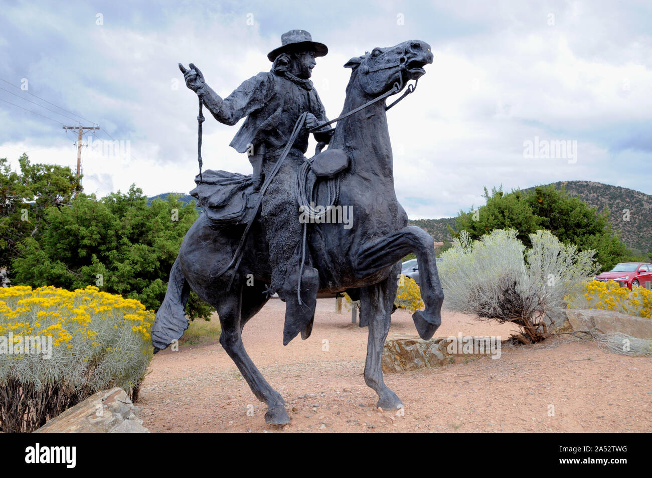
<svg viewBox="0 0 652 478"><path fill-rule="evenodd" d="M190 295L190 285L186 281L179 257L174 261L170 271L170 281L163 303L156 312L156 319L152 325L152 346L154 353L169 346L175 340L179 340L184 331L188 328L186 319L186 303Z"/></svg>

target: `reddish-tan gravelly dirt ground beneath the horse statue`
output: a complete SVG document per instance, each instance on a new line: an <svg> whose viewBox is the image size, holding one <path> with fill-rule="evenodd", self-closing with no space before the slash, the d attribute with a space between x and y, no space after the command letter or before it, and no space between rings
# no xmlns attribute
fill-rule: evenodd
<svg viewBox="0 0 652 478"><path fill-rule="evenodd" d="M404 414L374 410L378 397L363 378L367 329L334 312L334 303L319 299L312 336L286 347L278 299L244 328L250 357L286 400L289 425L265 425L265 404L216 342L155 355L138 402L143 425L151 432L652 431L652 359L570 338L503 348L497 360L385 374ZM436 336L507 338L511 329L445 312ZM393 314L390 338L396 333L416 335L405 310Z"/></svg>

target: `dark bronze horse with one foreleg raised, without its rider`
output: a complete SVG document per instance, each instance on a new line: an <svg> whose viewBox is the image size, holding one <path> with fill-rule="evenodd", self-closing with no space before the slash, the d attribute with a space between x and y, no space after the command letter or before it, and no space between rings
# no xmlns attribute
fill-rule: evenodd
<svg viewBox="0 0 652 478"><path fill-rule="evenodd" d="M420 40L374 48L352 58L344 65L351 68L351 78L343 113L384 95L395 83L404 88L408 80L425 74L423 67L432 59L430 46ZM441 324L443 290L437 275L434 240L421 228L407 225L408 216L396 200L385 108L384 100L374 102L338 122L329 149L341 149L350 160L348 170L340 173L338 203L353 206L355 220L352 228L310 224L307 244L319 271L320 292L347 291L361 301L360 326L369 327L364 381L378 393L377 406L395 410L403 404L383 382L381 358L396 298L400 260L410 252L417 255L425 310L417 310L412 317L419 335L426 340ZM322 204L325 189L317 185L317 198ZM244 226L216 227L205 213L200 215L186 233L170 272L166 297L156 313L152 342L158 351L181 338L188 327L184 313L188 293L194 290L215 307L222 326L220 344L256 398L267 403L265 421L288 423L282 396L263 378L241 340L244 324L269 300L264 292L271 271L258 218L246 237L231 287L231 274L219 274L231 262L243 230ZM311 329L312 323L301 331L301 337L308 338Z"/></svg>

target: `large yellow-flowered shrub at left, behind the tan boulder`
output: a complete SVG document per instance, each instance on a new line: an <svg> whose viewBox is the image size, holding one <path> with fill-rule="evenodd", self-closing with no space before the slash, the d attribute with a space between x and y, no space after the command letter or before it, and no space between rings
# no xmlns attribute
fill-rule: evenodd
<svg viewBox="0 0 652 478"><path fill-rule="evenodd" d="M153 322L139 301L95 286L0 288L0 387L12 391L0 397L0 431L32 431L102 389L137 393ZM57 406L29 406L48 401Z"/></svg>

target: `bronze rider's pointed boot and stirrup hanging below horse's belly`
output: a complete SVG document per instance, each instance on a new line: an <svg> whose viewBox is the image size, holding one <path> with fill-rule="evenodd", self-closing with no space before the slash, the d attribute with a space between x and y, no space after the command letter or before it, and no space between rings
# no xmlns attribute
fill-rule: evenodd
<svg viewBox="0 0 652 478"><path fill-rule="evenodd" d="M315 316L317 291L319 290L319 272L314 267L304 265L301 274L301 304L297 297L299 282L299 265L295 265L286 276L282 297L286 303L286 321L283 329L283 345L288 345L301 331L308 331ZM312 327L310 327L312 328ZM307 335L310 335L308 331ZM307 338L307 336L306 336Z"/></svg>

